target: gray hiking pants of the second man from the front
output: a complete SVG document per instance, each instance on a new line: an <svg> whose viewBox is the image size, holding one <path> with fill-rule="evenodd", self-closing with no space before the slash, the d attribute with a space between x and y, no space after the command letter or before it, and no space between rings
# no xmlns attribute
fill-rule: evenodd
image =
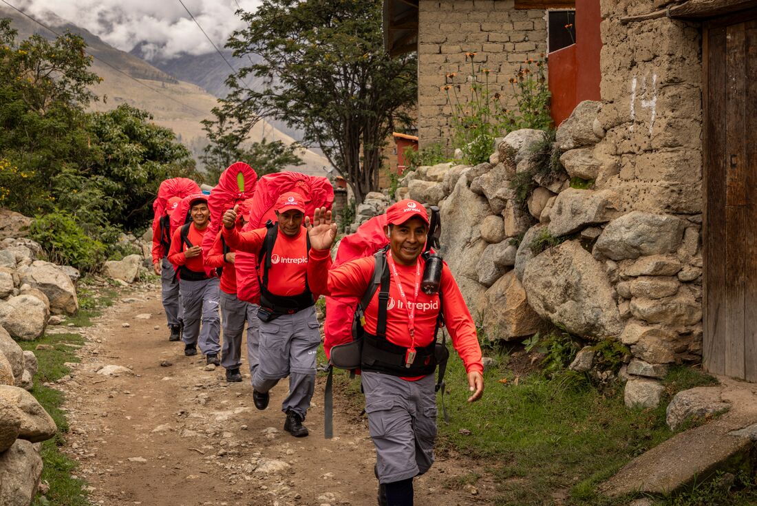
<svg viewBox="0 0 757 506"><path fill-rule="evenodd" d="M316 388L320 342L314 306L267 323L261 321L260 365L252 378L254 389L268 392L279 379L289 376L289 395L282 402L282 411L294 411L304 420Z"/></svg>

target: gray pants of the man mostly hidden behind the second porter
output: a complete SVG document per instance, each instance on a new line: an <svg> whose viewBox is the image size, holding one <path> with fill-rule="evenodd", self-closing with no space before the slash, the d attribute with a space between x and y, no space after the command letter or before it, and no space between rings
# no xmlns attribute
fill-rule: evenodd
<svg viewBox="0 0 757 506"><path fill-rule="evenodd" d="M260 320L257 319L255 304L240 301L235 294L220 292L221 320L223 321L223 347L221 366L225 369L241 367L241 335L247 322L247 359L250 373L257 367L257 333Z"/></svg>

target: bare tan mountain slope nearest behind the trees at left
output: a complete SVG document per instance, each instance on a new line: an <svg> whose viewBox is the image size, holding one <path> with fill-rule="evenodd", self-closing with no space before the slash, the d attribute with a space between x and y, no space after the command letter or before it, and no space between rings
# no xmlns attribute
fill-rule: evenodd
<svg viewBox="0 0 757 506"><path fill-rule="evenodd" d="M25 39L35 33L48 39L55 37L48 30L10 8L0 7L0 17L11 18L20 39ZM123 103L144 109L153 115L155 123L171 128L195 157L202 153L207 145L207 138L200 122L212 117L210 110L217 105L216 96L195 83L188 83L179 76L160 70L135 55L108 45L98 36L76 27L73 23L52 14L44 22L58 33L70 30L72 33L79 34L87 42L89 54L95 56L92 70L103 78L103 82L95 86L93 91L103 97L103 100L91 105L93 111L109 111ZM213 54L220 59L217 53ZM226 66L223 60L221 64ZM228 66L226 70L230 70ZM196 73L196 75L200 74L200 72ZM226 79L226 75L228 73L223 74L223 79ZM269 141L281 140L286 144L291 144L295 140L276 126L260 121L253 129L250 140L258 141L264 138ZM305 164L301 167L288 168L323 175L324 167L330 166L325 157L314 151L303 149L299 155Z"/></svg>

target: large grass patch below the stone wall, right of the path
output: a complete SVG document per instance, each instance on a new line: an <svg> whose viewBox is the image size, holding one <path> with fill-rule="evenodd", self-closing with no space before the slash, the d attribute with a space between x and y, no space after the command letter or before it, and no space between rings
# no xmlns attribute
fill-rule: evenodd
<svg viewBox="0 0 757 506"><path fill-rule="evenodd" d="M614 360L623 350L598 351ZM667 403L654 410L630 410L621 385L596 389L577 373L555 373L553 379L534 373L520 376L516 383L507 357L499 363L484 373L484 398L468 404L463 364L452 354L446 376L450 423L440 418L438 450L444 453L450 448L485 461L499 484L495 504L628 504L628 497L599 495L597 485L674 435L665 425ZM500 383L501 379L508 381ZM666 393L712 384L712 379L687 367L673 367ZM556 495L562 499L556 501Z"/></svg>

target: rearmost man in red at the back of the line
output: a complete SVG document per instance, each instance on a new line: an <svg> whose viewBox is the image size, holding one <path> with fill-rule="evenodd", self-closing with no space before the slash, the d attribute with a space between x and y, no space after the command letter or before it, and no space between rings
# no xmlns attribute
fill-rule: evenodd
<svg viewBox="0 0 757 506"><path fill-rule="evenodd" d="M182 339L182 301L179 295L179 280L173 265L168 261L168 251L171 248L171 214L179 206L181 197L168 199L163 217L152 229L152 270L160 276L160 292L163 297L163 308L166 311L168 328L171 330L169 341Z"/></svg>

